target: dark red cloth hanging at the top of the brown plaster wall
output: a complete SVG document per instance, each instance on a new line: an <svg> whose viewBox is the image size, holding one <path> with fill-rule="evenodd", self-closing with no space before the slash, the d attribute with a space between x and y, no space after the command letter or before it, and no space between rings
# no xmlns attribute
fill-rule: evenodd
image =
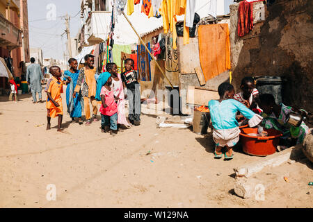
<svg viewBox="0 0 313 222"><path fill-rule="evenodd" d="M238 8L238 35L242 37L253 28L253 3L241 1Z"/></svg>

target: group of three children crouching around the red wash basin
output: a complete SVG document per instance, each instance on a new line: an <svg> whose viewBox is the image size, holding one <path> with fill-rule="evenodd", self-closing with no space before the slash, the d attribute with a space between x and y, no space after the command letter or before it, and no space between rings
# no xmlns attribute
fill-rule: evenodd
<svg viewBox="0 0 313 222"><path fill-rule="evenodd" d="M300 126L291 126L287 123L287 116L291 112L303 114L303 110L291 108L283 103L276 104L272 94L261 94L255 88L255 80L245 77L241 81L241 92L235 94L230 83L218 86L219 100L209 101L211 127L213 139L216 143L214 158L232 160L232 148L239 142L239 122L248 120L249 127L258 127L258 132L266 136L264 128L275 128L283 133L284 145L292 146L303 142L310 129L304 122ZM289 141L287 144L286 141ZM224 151L223 151L224 149Z"/></svg>

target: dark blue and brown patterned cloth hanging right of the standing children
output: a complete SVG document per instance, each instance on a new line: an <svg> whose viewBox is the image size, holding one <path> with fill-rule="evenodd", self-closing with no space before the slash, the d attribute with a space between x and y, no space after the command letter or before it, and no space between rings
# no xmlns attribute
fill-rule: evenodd
<svg viewBox="0 0 313 222"><path fill-rule="evenodd" d="M147 48L150 49L150 42L147 45ZM143 44L137 46L137 56L138 56L138 80L141 81L151 81L151 69L150 61L151 57L149 53L145 50Z"/></svg>

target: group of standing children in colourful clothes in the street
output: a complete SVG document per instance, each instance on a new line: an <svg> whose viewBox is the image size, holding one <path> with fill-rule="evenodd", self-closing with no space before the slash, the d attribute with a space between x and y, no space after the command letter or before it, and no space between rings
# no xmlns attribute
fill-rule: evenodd
<svg viewBox="0 0 313 222"><path fill-rule="evenodd" d="M141 123L141 93L140 85L134 71L134 60L125 60L126 71L118 73L115 63L106 64L106 72L97 74L93 67L93 56L85 56L86 66L77 69L77 60L70 58L70 69L65 71L61 79L61 69L52 66L49 69L52 78L48 80L47 92L47 130L50 129L51 117L58 116L58 131L61 131L63 105L61 94L63 84L67 85L66 102L67 112L72 121L78 118L83 123L82 110L86 113L86 126L91 123L89 99L93 105L93 121L97 121L97 104L101 101L101 129L103 133L116 135L121 126L129 128ZM88 67L87 67L88 66ZM87 67L87 68L86 68ZM125 117L125 99L129 101L129 122Z"/></svg>

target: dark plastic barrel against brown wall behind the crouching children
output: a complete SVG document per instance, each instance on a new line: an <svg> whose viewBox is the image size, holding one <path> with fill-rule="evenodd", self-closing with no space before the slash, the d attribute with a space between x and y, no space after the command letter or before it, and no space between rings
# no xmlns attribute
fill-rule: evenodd
<svg viewBox="0 0 313 222"><path fill-rule="evenodd" d="M259 94L272 94L275 102L280 104L282 102L282 78L280 76L263 76L257 78L257 90Z"/></svg>

